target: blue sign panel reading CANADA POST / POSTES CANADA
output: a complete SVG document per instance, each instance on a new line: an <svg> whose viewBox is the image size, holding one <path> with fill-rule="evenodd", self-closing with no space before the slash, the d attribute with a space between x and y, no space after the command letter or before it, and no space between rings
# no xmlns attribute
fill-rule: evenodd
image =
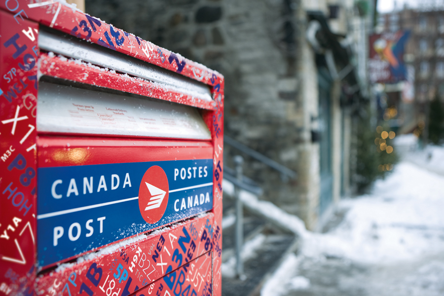
<svg viewBox="0 0 444 296"><path fill-rule="evenodd" d="M212 173L212 159L39 168L38 264L211 210Z"/></svg>

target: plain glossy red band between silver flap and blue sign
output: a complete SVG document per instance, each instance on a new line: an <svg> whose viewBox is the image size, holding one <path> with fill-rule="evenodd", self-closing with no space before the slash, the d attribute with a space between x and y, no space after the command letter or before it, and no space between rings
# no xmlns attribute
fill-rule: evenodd
<svg viewBox="0 0 444 296"><path fill-rule="evenodd" d="M210 142L37 137L38 167L213 158Z"/></svg>

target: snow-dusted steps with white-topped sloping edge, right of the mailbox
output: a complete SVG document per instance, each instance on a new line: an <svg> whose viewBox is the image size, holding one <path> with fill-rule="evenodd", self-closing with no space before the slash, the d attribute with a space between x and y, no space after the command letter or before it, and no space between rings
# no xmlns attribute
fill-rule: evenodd
<svg viewBox="0 0 444 296"><path fill-rule="evenodd" d="M244 204L242 258L246 276L245 280L241 280L235 273L236 216L233 193L232 183L223 180L222 295L259 295L266 279L304 236L305 226L296 216L241 190L240 197Z"/></svg>

